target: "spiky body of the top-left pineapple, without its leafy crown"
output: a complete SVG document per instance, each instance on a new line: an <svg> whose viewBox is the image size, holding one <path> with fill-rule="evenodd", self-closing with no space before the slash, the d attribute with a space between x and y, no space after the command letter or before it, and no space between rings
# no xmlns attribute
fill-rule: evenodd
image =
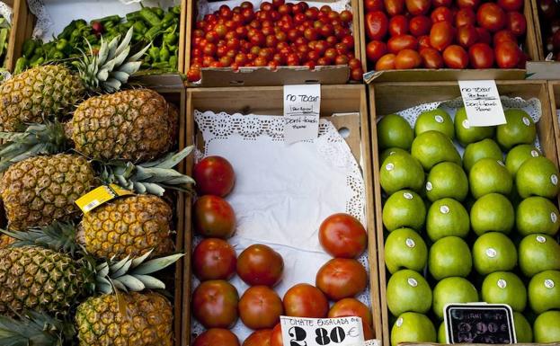
<svg viewBox="0 0 560 346"><path fill-rule="evenodd" d="M67 67L28 69L0 85L0 130L16 131L25 123L68 115L84 94L82 80Z"/></svg>

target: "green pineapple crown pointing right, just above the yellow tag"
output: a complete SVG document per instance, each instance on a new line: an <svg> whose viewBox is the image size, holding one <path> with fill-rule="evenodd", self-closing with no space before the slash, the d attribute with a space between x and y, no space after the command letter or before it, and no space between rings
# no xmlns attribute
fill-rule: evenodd
<svg viewBox="0 0 560 346"><path fill-rule="evenodd" d="M177 172L173 167L190 155L193 149L194 146L188 146L178 153L170 153L144 164L116 161L102 164L101 180L107 184L116 183L124 189L140 194L163 196L165 189L191 192L194 180Z"/></svg>

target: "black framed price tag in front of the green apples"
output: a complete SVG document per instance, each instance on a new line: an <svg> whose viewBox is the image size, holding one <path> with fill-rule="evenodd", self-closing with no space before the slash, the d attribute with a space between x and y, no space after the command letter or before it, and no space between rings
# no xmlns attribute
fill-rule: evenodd
<svg viewBox="0 0 560 346"><path fill-rule="evenodd" d="M506 304L448 304L444 307L448 343L516 343L513 311Z"/></svg>

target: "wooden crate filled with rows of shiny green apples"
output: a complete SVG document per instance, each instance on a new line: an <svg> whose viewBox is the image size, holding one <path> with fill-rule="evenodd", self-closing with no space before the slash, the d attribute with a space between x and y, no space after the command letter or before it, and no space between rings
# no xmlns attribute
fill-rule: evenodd
<svg viewBox="0 0 560 346"><path fill-rule="evenodd" d="M497 84L507 123L485 128L457 82L370 86L385 346L447 343L444 306L471 302L560 342L556 110L546 82Z"/></svg>

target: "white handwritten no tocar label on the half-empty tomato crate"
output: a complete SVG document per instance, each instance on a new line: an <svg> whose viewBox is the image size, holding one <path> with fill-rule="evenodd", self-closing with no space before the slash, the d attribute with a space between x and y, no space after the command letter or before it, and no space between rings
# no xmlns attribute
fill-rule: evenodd
<svg viewBox="0 0 560 346"><path fill-rule="evenodd" d="M284 85L284 141L286 144L319 135L321 84Z"/></svg>

